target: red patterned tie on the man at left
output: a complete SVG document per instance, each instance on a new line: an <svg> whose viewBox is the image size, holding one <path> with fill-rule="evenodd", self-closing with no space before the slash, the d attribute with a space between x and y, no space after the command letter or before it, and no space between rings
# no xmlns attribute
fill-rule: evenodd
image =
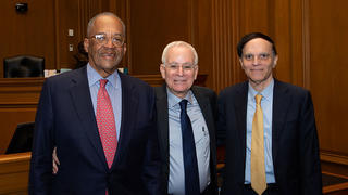
<svg viewBox="0 0 348 195"><path fill-rule="evenodd" d="M107 82L107 79L100 79L97 99L97 125L110 169L117 147L117 134L111 101L105 89Z"/></svg>

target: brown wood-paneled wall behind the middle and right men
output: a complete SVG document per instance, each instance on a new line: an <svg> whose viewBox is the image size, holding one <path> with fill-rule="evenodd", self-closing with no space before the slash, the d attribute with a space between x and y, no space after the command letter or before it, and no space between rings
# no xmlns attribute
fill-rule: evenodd
<svg viewBox="0 0 348 195"><path fill-rule="evenodd" d="M323 160L348 165L345 79L348 2L339 0L125 1L132 73L158 74L161 51L172 40L191 42L207 86L221 89L245 80L236 54L241 36L270 35L279 61L275 76L312 92ZM120 6L117 8L120 10ZM116 10L116 9L114 9ZM121 9L122 10L122 9Z"/></svg>

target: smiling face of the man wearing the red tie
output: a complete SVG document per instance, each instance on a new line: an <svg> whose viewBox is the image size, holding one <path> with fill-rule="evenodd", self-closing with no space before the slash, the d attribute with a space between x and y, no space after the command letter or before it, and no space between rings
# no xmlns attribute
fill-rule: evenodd
<svg viewBox="0 0 348 195"><path fill-rule="evenodd" d="M123 35L123 26L121 22L110 15L101 15L96 18L94 27L90 30L88 38L85 38L84 46L88 52L89 64L95 68L100 76L108 77L117 68L124 53L126 44L116 47L112 42L112 38ZM100 43L96 40L95 35L105 35L107 42Z"/></svg>

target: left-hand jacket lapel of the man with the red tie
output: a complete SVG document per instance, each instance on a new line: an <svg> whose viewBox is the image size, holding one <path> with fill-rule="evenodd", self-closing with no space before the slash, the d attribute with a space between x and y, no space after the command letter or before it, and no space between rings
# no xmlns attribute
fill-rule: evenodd
<svg viewBox="0 0 348 195"><path fill-rule="evenodd" d="M82 68L75 72L76 76L72 78L70 93L73 104L80 119L82 126L85 129L86 135L95 146L98 156L104 161L108 167L104 152L101 145L95 110L90 98L90 90L87 79L87 68Z"/></svg>

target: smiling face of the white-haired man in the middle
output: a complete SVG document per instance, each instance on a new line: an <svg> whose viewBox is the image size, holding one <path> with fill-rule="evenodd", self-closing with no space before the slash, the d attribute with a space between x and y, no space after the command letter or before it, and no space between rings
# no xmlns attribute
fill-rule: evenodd
<svg viewBox="0 0 348 195"><path fill-rule="evenodd" d="M192 51L185 46L170 48L165 64L161 64L162 78L171 92L185 98L197 78L198 65L195 65Z"/></svg>

